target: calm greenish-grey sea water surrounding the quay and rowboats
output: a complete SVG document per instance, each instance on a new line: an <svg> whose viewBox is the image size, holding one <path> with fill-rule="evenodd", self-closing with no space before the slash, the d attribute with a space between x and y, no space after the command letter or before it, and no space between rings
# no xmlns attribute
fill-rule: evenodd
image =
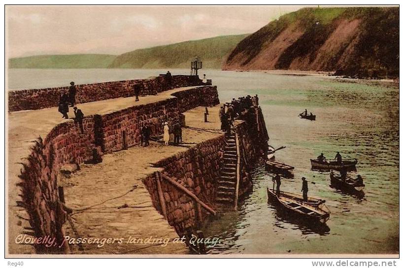
<svg viewBox="0 0 404 268"><path fill-rule="evenodd" d="M167 70L26 70L13 69L8 88L41 88L145 78ZM170 70L188 74L189 70ZM295 178L281 190L300 192L308 179L309 195L326 199L332 214L325 228L309 228L285 219L267 202L272 181L262 165L252 171L252 192L237 211L209 223L205 236L220 237L212 254L398 253L399 251L399 89L364 81L338 82L331 77L290 76L202 70L218 86L222 102L260 97L270 141L278 161L295 166ZM300 119L305 108L316 121ZM365 196L332 189L328 173L310 170L310 158L323 152L334 158L357 158Z"/></svg>

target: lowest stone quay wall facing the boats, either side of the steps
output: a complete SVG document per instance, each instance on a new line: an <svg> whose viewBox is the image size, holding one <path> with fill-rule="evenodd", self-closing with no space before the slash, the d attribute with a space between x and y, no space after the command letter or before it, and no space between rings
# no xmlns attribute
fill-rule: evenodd
<svg viewBox="0 0 404 268"><path fill-rule="evenodd" d="M252 187L248 171L257 157L261 155L260 151L266 150L264 144L267 144L268 139L263 138L262 142L257 142L257 139L261 136L257 133L256 128L248 124L247 121L237 124L235 131L239 137L241 155L241 176L239 181L239 196L241 196ZM225 146L226 139L223 134L218 138L200 143L186 152L163 159L157 162L156 166L162 168L161 172L163 174L194 193L202 202L216 209L217 179L222 166ZM154 207L163 214L157 185L158 176L156 172L145 178L144 184L150 192ZM168 223L175 228L180 236L189 229L198 228L199 224L209 215L207 210L202 208L202 217L200 217L197 203L191 196L165 179L160 179L160 181L164 203L166 204Z"/></svg>

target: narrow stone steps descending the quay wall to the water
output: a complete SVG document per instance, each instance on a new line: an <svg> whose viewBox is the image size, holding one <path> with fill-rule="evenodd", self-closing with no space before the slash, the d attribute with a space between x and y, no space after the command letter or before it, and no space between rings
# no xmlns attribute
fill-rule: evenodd
<svg viewBox="0 0 404 268"><path fill-rule="evenodd" d="M232 133L226 138L223 155L223 167L220 169L216 203L234 204L236 198L237 148L236 135Z"/></svg>

